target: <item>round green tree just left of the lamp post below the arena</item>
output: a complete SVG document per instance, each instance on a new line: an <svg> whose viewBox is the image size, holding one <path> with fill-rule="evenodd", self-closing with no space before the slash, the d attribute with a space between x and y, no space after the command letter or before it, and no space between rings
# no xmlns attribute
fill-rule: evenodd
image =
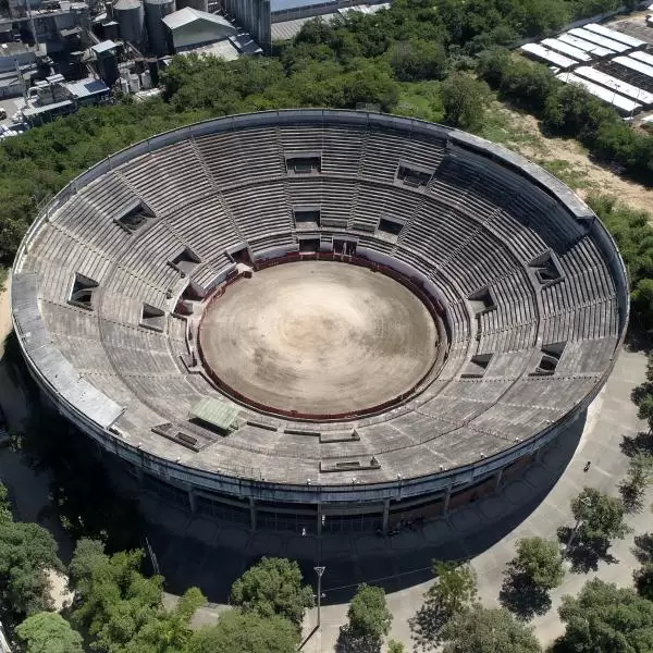
<svg viewBox="0 0 653 653"><path fill-rule="evenodd" d="M313 605L312 590L301 581L296 562L263 557L234 582L231 603L261 617L281 615L299 628L304 611Z"/></svg>

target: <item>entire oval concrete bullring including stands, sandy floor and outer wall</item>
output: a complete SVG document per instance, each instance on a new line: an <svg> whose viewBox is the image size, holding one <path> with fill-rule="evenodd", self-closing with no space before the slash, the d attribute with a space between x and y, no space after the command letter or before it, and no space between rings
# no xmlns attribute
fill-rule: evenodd
<svg viewBox="0 0 653 653"><path fill-rule="evenodd" d="M495 492L615 362L596 215L436 124L293 110L139 143L16 257L44 394L146 490L252 529L387 530Z"/></svg>

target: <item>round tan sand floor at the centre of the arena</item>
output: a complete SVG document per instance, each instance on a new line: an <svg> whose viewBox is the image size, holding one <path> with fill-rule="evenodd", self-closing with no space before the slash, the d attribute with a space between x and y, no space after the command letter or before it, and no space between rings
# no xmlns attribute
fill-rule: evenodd
<svg viewBox="0 0 653 653"><path fill-rule="evenodd" d="M229 287L201 346L231 387L313 415L371 408L410 390L438 353L424 305L383 274L329 261L286 263Z"/></svg>

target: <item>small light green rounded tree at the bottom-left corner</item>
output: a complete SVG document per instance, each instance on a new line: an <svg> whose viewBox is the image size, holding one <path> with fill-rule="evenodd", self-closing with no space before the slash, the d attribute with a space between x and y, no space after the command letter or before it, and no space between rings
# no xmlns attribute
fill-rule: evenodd
<svg viewBox="0 0 653 653"><path fill-rule="evenodd" d="M24 653L83 653L82 636L57 613L36 613L15 629Z"/></svg>

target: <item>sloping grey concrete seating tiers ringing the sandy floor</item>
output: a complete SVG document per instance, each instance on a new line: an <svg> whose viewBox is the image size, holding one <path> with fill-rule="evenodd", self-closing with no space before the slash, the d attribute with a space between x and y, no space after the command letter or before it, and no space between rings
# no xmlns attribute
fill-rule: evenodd
<svg viewBox="0 0 653 653"><path fill-rule="evenodd" d="M331 114L309 123L282 112L247 128L225 119L212 133L204 124L178 143L167 135L148 153L123 153L124 163L71 188L16 262L14 283L34 286L26 308L13 299L27 355L46 360L36 343L59 352L61 365L123 409L114 427L155 457L297 486L308 478L350 484L356 475L333 465L354 458L379 463L360 472L364 484L482 465L595 392L624 333L626 288L619 263L607 262L611 245L589 231L587 207L562 187L545 189L516 155L470 146L473 137ZM286 158L303 153L319 167L287 171ZM402 181L402 165L417 174ZM296 223L299 208L319 209L320 222ZM120 223L135 210L140 224ZM333 436L350 433L352 421L293 432L292 420L234 404L180 360L187 325L171 312L188 283L209 288L235 268L237 249L254 262L296 252L301 232L321 236L322 248L346 238L358 256L432 284L446 324L438 374L406 403L359 416L356 438ZM538 276L547 256L557 279ZM70 301L76 275L97 284L87 306ZM143 326L144 305L162 311L160 329ZM559 356L542 374L547 346ZM207 396L237 407L236 431L218 436L188 422ZM152 432L164 422L196 429L201 454Z"/></svg>

